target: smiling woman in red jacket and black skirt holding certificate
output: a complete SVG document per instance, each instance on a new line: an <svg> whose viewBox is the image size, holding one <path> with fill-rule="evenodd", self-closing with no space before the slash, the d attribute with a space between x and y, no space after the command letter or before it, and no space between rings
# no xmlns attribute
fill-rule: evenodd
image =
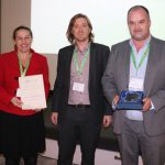
<svg viewBox="0 0 165 165"><path fill-rule="evenodd" d="M0 56L0 136L6 165L36 165L37 153L45 150L42 110L23 110L16 97L19 77L43 75L45 95L50 90L46 57L31 48L32 31L19 26L13 31L14 51Z"/></svg>

